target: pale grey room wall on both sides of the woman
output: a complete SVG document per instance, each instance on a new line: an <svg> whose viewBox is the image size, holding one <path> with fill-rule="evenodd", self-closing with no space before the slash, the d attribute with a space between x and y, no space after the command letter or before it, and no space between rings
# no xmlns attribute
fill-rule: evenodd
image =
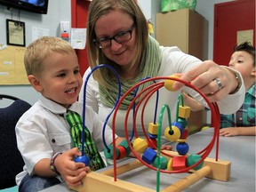
<svg viewBox="0 0 256 192"><path fill-rule="evenodd" d="M204 18L209 21L208 58L210 60L213 58L212 50L214 4L229 1L232 0L197 0L196 12L202 14ZM154 12L157 12L157 10L160 12L160 0L150 0L151 4L148 4L148 0L138 0L138 2L147 19L152 18L152 14L154 18ZM21 11L20 21L24 21L26 25L26 45L31 43L31 28L35 25L39 27L50 28L50 36L60 36L60 20L71 20L70 4L70 0L49 1L48 13L46 15ZM8 11L5 6L0 5L0 44L6 44L5 20L11 18L12 20L19 20L18 11L13 10L11 14L11 12ZM34 91L30 85L0 85L0 94L10 94L19 97L22 100L26 100L30 104L34 104L39 97L39 94ZM0 102L0 107L3 105L3 102Z"/></svg>

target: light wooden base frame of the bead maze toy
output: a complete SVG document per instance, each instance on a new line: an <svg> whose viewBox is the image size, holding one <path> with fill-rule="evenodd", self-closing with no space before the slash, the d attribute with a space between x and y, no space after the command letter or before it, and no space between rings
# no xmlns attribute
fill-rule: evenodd
<svg viewBox="0 0 256 192"><path fill-rule="evenodd" d="M165 153L172 154L177 156L177 152L173 151L165 151ZM123 164L121 166L117 166L116 173L122 174L124 172L129 172L133 169L136 169L143 164L140 163L138 159L134 161ZM213 180L221 180L221 181L228 181L230 178L230 170L231 170L231 163L228 161L218 160L212 158L205 158L203 167L198 170L194 171L191 170L191 173L188 174L187 177L179 180L176 183L173 183L171 186L164 188L161 192L168 192L168 191L182 191L185 188L188 188L190 185L195 183L197 180L201 180L204 177L213 179ZM164 174L164 173L162 173ZM114 170L107 170L105 172L90 172L86 175L83 180L84 185L72 188L78 192L99 192L99 191L115 191L115 192L150 192L156 191L155 189L145 188L140 185L133 184L131 182L127 182L124 180L116 180L114 181L113 178ZM172 175L170 175L172 177Z"/></svg>

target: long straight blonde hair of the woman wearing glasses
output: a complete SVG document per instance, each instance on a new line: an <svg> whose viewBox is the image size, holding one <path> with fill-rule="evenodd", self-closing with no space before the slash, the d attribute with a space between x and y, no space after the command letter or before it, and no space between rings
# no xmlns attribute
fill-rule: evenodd
<svg viewBox="0 0 256 192"><path fill-rule="evenodd" d="M134 22L137 41L134 47L136 55L132 59L132 66L140 63L142 52L146 49L148 42L148 24L139 5L134 0L93 0L89 7L86 32L87 52L91 68L94 68L99 64L108 64L113 68L118 68L118 65L113 60L108 60L102 50L93 44L93 40L96 39L94 30L96 21L101 16L108 14L108 12L113 10L128 14ZM93 76L99 84L107 86L108 84L106 84L104 79L116 78L108 68L95 70Z"/></svg>

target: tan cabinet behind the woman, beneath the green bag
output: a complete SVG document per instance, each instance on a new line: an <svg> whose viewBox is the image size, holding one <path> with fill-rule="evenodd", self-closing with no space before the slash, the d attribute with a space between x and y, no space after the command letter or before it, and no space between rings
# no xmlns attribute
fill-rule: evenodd
<svg viewBox="0 0 256 192"><path fill-rule="evenodd" d="M164 46L178 46L182 52L207 60L208 21L189 9L156 14L156 40ZM206 124L206 112L191 112L188 132L198 132Z"/></svg>

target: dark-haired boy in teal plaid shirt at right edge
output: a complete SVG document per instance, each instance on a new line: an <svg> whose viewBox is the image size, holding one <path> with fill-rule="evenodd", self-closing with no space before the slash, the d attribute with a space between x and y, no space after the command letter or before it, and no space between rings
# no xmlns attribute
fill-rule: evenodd
<svg viewBox="0 0 256 192"><path fill-rule="evenodd" d="M255 47L248 42L236 46L231 55L229 67L236 69L243 76L246 93L243 105L235 114L220 115L220 135L255 135ZM185 103L192 110L204 108L201 104L195 102L195 100L191 100L188 95L183 94L183 96Z"/></svg>

